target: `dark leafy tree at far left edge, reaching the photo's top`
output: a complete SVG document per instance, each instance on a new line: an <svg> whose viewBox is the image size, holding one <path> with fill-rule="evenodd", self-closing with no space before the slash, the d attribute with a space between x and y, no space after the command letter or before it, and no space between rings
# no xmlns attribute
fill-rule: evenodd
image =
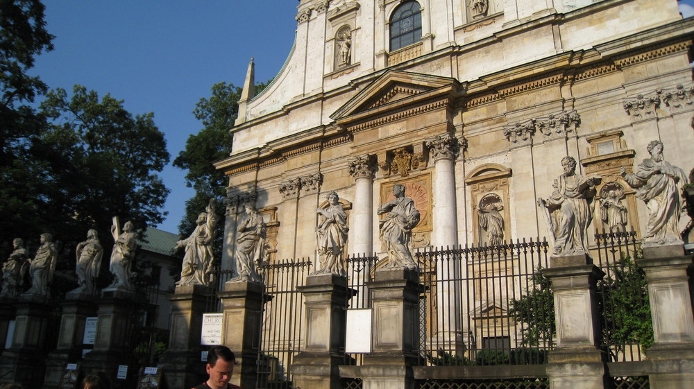
<svg viewBox="0 0 694 389"><path fill-rule="evenodd" d="M45 121L30 104L46 91L46 85L27 71L33 67L36 55L53 49L53 35L46 31L45 25L44 6L40 1L0 1L0 242L3 245L8 245L7 234L31 230L26 215L40 208L37 198L42 182L32 173L36 166L28 148L31 137L40 133Z"/></svg>

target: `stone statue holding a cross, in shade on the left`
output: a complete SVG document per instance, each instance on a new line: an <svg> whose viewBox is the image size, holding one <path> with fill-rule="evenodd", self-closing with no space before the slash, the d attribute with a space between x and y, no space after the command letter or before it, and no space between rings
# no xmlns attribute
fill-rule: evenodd
<svg viewBox="0 0 694 389"><path fill-rule="evenodd" d="M109 270L114 279L108 286L109 289L130 291L133 288L133 285L130 284L130 278L133 277L133 258L135 257L135 250L137 250L133 229L133 223L129 221L123 226L122 233L119 233L117 225L111 226L111 234L115 243L111 252Z"/></svg>

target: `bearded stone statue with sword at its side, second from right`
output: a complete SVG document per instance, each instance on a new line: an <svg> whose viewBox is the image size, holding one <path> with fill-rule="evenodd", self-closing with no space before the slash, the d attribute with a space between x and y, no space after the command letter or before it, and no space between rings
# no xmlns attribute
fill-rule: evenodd
<svg viewBox="0 0 694 389"><path fill-rule="evenodd" d="M600 176L586 177L576 174L573 157L561 159L564 174L555 180L555 190L548 199L538 198L545 221L550 227L554 241L553 257L587 254L588 226L593 221L595 185Z"/></svg>

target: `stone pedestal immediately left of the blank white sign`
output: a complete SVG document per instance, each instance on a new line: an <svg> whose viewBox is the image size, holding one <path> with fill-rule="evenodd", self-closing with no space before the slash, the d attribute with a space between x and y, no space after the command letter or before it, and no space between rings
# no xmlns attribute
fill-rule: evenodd
<svg viewBox="0 0 694 389"><path fill-rule="evenodd" d="M339 365L346 365L346 309L356 294L345 277L310 275L303 293L306 346L291 364L294 385L303 389L341 389Z"/></svg>

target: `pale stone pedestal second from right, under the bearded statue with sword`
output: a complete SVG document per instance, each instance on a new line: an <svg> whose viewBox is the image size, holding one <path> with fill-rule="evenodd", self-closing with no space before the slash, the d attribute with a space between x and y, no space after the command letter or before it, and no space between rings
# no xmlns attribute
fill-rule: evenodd
<svg viewBox="0 0 694 389"><path fill-rule="evenodd" d="M595 286L604 276L586 254L550 258L542 270L555 295L557 347L549 355L552 389L607 388L606 355L598 349L600 322Z"/></svg>

